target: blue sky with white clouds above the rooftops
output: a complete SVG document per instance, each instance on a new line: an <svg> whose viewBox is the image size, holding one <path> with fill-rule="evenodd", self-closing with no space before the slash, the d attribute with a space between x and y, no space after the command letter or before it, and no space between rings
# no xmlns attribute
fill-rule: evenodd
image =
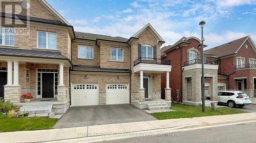
<svg viewBox="0 0 256 143"><path fill-rule="evenodd" d="M200 39L208 48L250 35L256 42L256 0L47 0L75 31L130 38L147 23L173 45Z"/></svg>

